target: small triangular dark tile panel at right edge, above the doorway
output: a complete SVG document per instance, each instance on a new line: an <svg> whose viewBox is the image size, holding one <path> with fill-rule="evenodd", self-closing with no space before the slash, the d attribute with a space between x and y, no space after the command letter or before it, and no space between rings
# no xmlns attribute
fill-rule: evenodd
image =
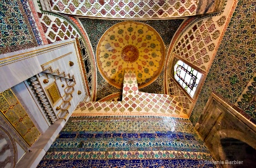
<svg viewBox="0 0 256 168"><path fill-rule="evenodd" d="M256 119L256 73L251 78L245 90L234 104L245 111L246 114Z"/></svg>

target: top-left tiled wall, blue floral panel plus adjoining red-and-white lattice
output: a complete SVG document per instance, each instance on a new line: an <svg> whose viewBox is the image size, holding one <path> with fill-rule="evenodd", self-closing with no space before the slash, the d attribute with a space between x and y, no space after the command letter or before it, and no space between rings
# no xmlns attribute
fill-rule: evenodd
<svg viewBox="0 0 256 168"><path fill-rule="evenodd" d="M32 0L3 1L0 9L0 54L81 36L70 21L40 11Z"/></svg>

